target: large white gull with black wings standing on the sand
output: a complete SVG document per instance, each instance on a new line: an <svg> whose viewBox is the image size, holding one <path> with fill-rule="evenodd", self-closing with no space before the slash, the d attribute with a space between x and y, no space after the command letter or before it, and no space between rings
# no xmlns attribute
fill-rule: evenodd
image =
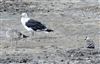
<svg viewBox="0 0 100 64"><path fill-rule="evenodd" d="M21 23L27 29L34 35L34 31L45 31L45 32L53 32L52 29L48 29L44 24L41 22L31 19L28 17L27 13L21 14Z"/></svg>

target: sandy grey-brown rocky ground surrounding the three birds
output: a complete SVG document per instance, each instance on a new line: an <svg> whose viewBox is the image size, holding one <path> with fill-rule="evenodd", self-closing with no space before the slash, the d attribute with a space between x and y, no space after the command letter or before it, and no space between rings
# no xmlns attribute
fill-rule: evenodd
<svg viewBox="0 0 100 64"><path fill-rule="evenodd" d="M99 11L97 2L1 1L0 63L100 64ZM30 36L21 25L22 12L27 12L31 18L44 23L54 32L37 32L33 37L10 40L6 37L9 29L17 29ZM82 48L86 44L86 36L95 42L96 49Z"/></svg>

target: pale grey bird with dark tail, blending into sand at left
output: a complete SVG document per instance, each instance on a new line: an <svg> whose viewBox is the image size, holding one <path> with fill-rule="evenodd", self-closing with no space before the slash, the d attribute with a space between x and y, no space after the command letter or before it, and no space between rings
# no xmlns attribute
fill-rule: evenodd
<svg viewBox="0 0 100 64"><path fill-rule="evenodd" d="M6 37L7 39L9 39L11 41L11 47L13 47L13 41L15 41L15 45L17 45L17 41L22 39L22 38L27 38L28 36L22 34L21 32L19 32L16 29L9 29L6 32Z"/></svg>

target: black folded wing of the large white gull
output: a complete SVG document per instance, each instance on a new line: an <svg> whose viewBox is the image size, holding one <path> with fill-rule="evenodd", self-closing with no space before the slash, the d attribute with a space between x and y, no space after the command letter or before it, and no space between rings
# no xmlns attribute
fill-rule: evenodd
<svg viewBox="0 0 100 64"><path fill-rule="evenodd" d="M28 22L26 22L26 26L32 28L33 30L44 30L46 29L46 26L43 25L41 22L30 19Z"/></svg>

